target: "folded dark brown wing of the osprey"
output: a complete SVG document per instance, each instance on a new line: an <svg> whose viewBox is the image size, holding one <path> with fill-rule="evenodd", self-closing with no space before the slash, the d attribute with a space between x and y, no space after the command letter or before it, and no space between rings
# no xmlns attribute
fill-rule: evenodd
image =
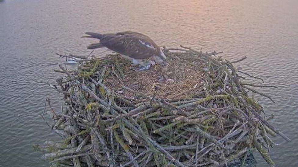
<svg viewBox="0 0 298 167"><path fill-rule="evenodd" d="M159 47L153 40L136 32L104 34L100 43L115 52L135 59L146 59L159 54Z"/></svg>

